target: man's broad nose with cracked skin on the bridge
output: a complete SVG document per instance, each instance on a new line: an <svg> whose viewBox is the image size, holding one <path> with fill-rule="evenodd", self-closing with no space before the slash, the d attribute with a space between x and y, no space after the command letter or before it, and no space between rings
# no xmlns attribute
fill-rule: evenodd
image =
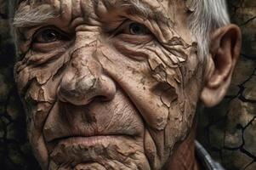
<svg viewBox="0 0 256 170"><path fill-rule="evenodd" d="M87 105L94 99L110 100L116 94L111 77L102 73L91 48L80 48L71 56L58 88L58 98L72 105Z"/></svg>

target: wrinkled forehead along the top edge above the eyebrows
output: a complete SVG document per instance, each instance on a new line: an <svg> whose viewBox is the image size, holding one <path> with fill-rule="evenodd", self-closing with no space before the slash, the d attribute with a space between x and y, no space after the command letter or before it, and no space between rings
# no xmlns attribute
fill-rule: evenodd
<svg viewBox="0 0 256 170"><path fill-rule="evenodd" d="M14 0L15 1L15 0ZM189 0L16 0L14 5L15 10L19 9L19 6L27 5L30 8L36 8L38 5L49 4L63 13L64 10L71 10L71 12L77 10L89 11L95 6L104 6L105 9L110 8L134 8L144 14L159 14L160 16L168 19L174 19L177 12L188 11L187 2ZM137 12L138 12L137 11ZM94 11L95 12L95 11ZM161 17L160 17L161 18ZM174 21L174 20L173 20Z"/></svg>

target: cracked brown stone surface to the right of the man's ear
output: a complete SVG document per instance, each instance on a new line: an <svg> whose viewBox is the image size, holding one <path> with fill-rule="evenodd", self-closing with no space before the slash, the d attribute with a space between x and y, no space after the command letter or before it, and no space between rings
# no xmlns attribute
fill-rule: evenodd
<svg viewBox="0 0 256 170"><path fill-rule="evenodd" d="M242 28L241 59L225 99L200 111L198 139L230 170L256 169L256 3L229 1L232 22Z"/></svg>

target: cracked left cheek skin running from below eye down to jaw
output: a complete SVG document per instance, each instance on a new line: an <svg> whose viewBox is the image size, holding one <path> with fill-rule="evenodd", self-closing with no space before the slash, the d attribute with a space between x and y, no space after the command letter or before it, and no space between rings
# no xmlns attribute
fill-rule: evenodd
<svg viewBox="0 0 256 170"><path fill-rule="evenodd" d="M26 65L21 61L15 66L17 86L23 104L26 106L28 136L35 156L37 160L40 160L43 168L46 168L48 164L48 150L41 132L48 111L55 102L56 84L60 81L60 77L56 78L55 81L51 78L54 76L55 69L59 70L63 65L61 60L59 64L48 65L42 70Z"/></svg>

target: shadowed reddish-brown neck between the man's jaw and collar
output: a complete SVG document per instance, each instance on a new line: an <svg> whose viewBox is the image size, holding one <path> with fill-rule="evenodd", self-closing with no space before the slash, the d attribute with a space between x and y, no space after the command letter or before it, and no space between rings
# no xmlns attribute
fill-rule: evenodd
<svg viewBox="0 0 256 170"><path fill-rule="evenodd" d="M196 123L194 123L196 124ZM200 170L195 155L196 126L191 133L177 146L167 165L163 169L171 170Z"/></svg>

